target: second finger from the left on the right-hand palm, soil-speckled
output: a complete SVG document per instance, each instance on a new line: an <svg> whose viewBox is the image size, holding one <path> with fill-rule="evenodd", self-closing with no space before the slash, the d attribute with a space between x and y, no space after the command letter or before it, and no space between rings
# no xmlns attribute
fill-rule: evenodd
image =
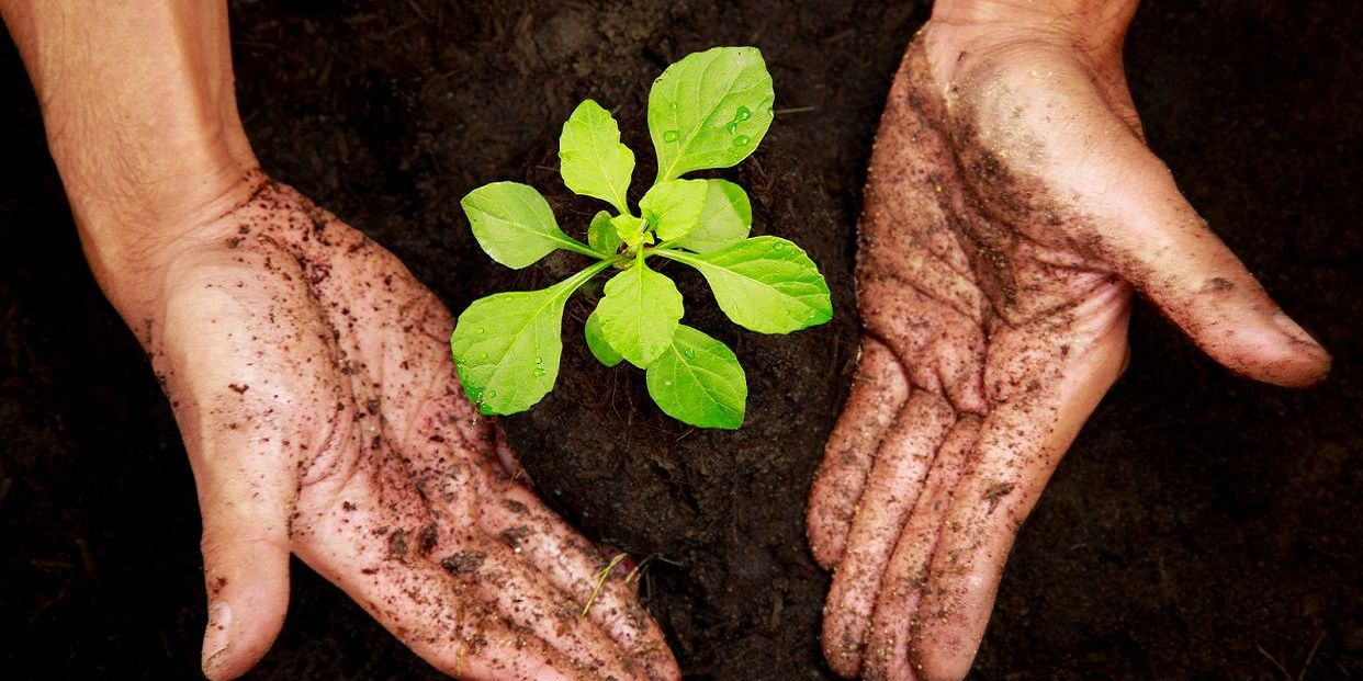
<svg viewBox="0 0 1363 681"><path fill-rule="evenodd" d="M860 673L880 576L928 466L954 422L942 396L913 391L880 443L825 607L823 654L840 676Z"/></svg>

